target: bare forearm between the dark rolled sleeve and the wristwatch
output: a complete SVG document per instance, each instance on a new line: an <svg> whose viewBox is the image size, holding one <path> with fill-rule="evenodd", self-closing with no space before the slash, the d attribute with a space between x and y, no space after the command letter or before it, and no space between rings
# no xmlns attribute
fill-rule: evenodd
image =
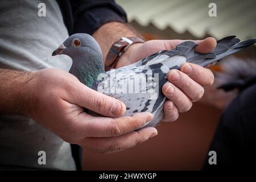
<svg viewBox="0 0 256 182"><path fill-rule="evenodd" d="M104 61L112 44L122 36L140 35L128 24L119 22L105 23L93 33L93 37L100 44Z"/></svg>

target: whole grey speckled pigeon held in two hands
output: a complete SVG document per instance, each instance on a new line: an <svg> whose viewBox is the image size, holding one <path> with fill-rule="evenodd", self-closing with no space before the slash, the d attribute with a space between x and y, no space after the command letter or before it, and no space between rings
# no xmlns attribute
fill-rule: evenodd
<svg viewBox="0 0 256 182"><path fill-rule="evenodd" d="M122 101L126 105L124 116L143 111L152 113L152 120L142 127L155 127L164 114L167 98L162 93L162 86L167 82L168 71L179 69L185 62L209 67L255 42L256 39L249 39L240 43L236 36L227 36L217 41L212 52L203 54L195 51L194 42L185 41L172 50L159 51L134 64L105 72L96 40L88 34L73 34L53 51L52 56L71 57L73 63L69 73L89 88Z"/></svg>

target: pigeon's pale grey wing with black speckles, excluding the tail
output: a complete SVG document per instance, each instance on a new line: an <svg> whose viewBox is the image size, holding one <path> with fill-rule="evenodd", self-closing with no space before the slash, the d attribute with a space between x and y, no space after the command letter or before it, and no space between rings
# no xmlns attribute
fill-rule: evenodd
<svg viewBox="0 0 256 182"><path fill-rule="evenodd" d="M147 61L139 67L129 66L106 72L98 85L98 92L117 98L126 105L125 115L134 115L143 111L153 114L146 126L156 126L163 118L163 104L166 100L162 86L167 82L166 75L174 65L186 61L181 55L162 53L158 59Z"/></svg>

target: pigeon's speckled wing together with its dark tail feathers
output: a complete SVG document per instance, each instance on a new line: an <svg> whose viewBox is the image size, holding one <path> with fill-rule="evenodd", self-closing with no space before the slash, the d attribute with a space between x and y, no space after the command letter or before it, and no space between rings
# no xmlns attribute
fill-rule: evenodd
<svg viewBox="0 0 256 182"><path fill-rule="evenodd" d="M254 44L256 39L239 42L240 40L235 36L226 37L217 42L213 52L205 54L195 52L194 42L183 42L170 51L156 52L137 63L106 72L104 78L98 83L97 90L122 101L126 105L125 115L134 115L143 111L152 113L152 121L145 126L156 126L163 117L163 104L166 97L162 93L162 86L167 82L168 71L179 69L185 62L207 67L217 63L223 57ZM136 82L136 80L140 81ZM154 80L155 84L152 86L149 80ZM123 85L129 88L123 89ZM156 97L154 93L157 93Z"/></svg>

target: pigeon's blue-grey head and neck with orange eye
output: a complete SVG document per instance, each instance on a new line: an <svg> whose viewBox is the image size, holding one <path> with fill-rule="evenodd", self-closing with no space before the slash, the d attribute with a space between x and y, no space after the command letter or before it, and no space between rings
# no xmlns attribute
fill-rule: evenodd
<svg viewBox="0 0 256 182"><path fill-rule="evenodd" d="M104 72L100 45L88 34L73 34L67 38L55 51L55 55L67 55L72 58L69 73L91 87L100 73Z"/></svg>

